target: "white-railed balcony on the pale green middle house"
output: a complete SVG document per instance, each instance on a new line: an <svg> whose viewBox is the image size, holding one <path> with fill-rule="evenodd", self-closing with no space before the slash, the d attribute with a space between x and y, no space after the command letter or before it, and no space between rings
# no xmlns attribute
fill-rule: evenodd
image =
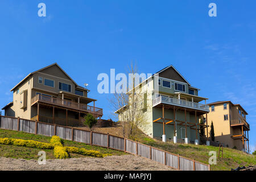
<svg viewBox="0 0 256 182"><path fill-rule="evenodd" d="M197 102L190 102L185 100L179 100L177 98L171 98L166 96L159 96L152 100L153 107L159 104L167 104L167 105L174 105L174 106L180 106L180 107L186 107L189 109L196 109L201 111L207 111L209 112L209 106L205 104L200 104Z"/></svg>

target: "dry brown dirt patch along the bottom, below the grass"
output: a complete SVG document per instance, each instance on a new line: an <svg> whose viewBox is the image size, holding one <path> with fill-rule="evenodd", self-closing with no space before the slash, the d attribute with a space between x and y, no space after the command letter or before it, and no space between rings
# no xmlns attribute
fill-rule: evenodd
<svg viewBox="0 0 256 182"><path fill-rule="evenodd" d="M105 158L49 159L45 165L37 160L0 157L0 170L19 171L172 171L167 166L141 156L122 155Z"/></svg>

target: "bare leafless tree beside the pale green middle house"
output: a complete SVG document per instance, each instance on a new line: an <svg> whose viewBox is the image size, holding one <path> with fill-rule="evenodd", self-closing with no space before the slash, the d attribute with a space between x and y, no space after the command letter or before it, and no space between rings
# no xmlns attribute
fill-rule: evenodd
<svg viewBox="0 0 256 182"><path fill-rule="evenodd" d="M115 92L112 100L110 100L116 110L115 114L118 114L118 121L121 122L123 137L129 139L135 139L139 127L147 125L147 119L144 114L148 107L147 93L142 90L142 81L136 80L140 79L140 77L138 78L135 75L138 75L137 67L131 63L129 77L132 77L132 82L126 83L126 92Z"/></svg>

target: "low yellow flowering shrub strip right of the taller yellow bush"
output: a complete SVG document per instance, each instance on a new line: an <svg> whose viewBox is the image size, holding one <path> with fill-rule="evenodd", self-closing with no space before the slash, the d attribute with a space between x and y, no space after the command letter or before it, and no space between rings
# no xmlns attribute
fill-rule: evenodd
<svg viewBox="0 0 256 182"><path fill-rule="evenodd" d="M101 154L99 151L86 150L85 148L77 148L77 147L65 147L65 150L67 152L81 154L81 155L95 156L97 158L104 158L105 156L112 155L112 154Z"/></svg>

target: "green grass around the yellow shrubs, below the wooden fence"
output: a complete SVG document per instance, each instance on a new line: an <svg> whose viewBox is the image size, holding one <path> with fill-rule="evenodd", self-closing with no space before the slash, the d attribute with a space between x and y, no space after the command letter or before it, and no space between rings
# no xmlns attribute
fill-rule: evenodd
<svg viewBox="0 0 256 182"><path fill-rule="evenodd" d="M28 134L18 131L10 131L10 130L2 130L0 129L0 138L17 138L24 140L36 140L39 142L49 143L51 137L45 137L43 135L35 135ZM69 140L63 140L64 146L73 146L73 147L82 147L86 150L96 150L100 151L102 154L112 154L112 155L123 155L124 152L115 151L108 148L90 146L85 143L80 142L72 142ZM42 149L39 148L28 148L28 147L20 147L20 146L7 146L4 144L0 144L0 156L5 156L7 158L22 158L22 159L38 159L38 152ZM53 156L53 150L44 150L46 152L47 159L55 159ZM88 156L79 155L79 154L71 154L72 158L84 158Z"/></svg>

